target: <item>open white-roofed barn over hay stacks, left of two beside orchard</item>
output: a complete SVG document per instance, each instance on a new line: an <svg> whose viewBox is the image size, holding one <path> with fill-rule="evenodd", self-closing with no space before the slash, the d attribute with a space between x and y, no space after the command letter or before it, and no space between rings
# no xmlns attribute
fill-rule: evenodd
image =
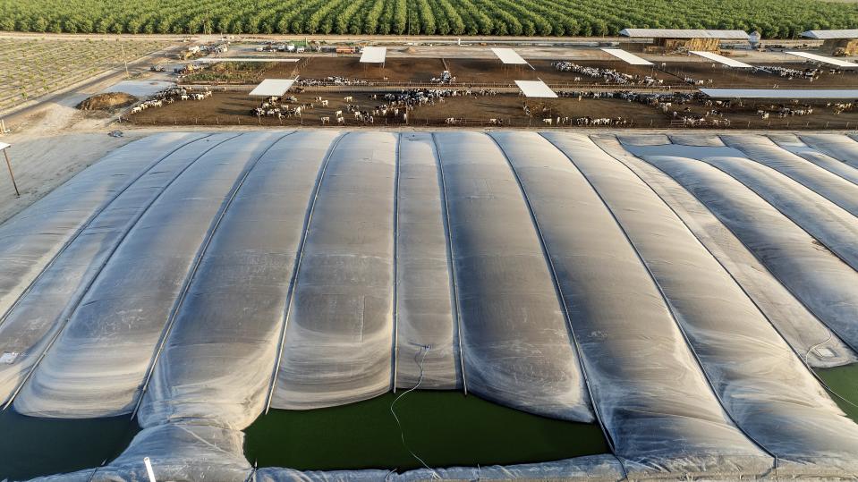
<svg viewBox="0 0 858 482"><path fill-rule="evenodd" d="M691 50L718 52L722 40L749 39L743 30L624 29L620 35L633 40L651 39L643 47L648 54L677 54Z"/></svg>

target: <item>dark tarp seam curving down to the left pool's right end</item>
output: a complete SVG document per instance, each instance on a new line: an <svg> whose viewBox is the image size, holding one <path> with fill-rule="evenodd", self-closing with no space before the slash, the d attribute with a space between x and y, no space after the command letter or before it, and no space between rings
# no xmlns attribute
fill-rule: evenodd
<svg viewBox="0 0 858 482"><path fill-rule="evenodd" d="M155 368L158 362L158 359L161 358L161 351L164 350L164 345L166 344L167 337L169 337L170 333L173 331L173 326L175 322L175 318L179 314L179 310L182 308L184 304L184 300L188 295L188 292L191 290L191 283L193 283L194 278L197 275L197 270L200 268L200 263L202 263L202 259L206 256L208 252L208 246L211 245L211 241L215 238L215 233L217 232L217 228L220 227L221 222L224 220L226 216L226 211L229 210L233 205L233 201L236 196L238 196L239 190L244 186L244 182L247 181L248 176L251 175L251 171L259 165L259 161L262 157L265 157L272 148L276 146L281 140L291 136L296 131L288 132L280 137L278 137L275 141L268 145L259 156L256 157L253 161L251 161L250 165L247 165L240 173L239 179L234 182L233 187L227 193L226 199L221 203L221 206L218 208L218 212L215 215L215 220L212 224L210 224L208 228L208 233L206 233L206 238L203 241L200 248L197 250L197 254L194 256L193 266L191 267L191 271L185 275L185 279L183 281L182 292L179 294L179 297L174 301L173 308L170 309L170 314L167 317L166 326L161 333L161 337L158 339L157 351L155 352L154 358L149 363L149 368L146 371L146 377L143 379L143 385L140 388L140 394L137 397L137 402L134 405L134 410L132 411L132 419L137 415L137 410L140 410L140 403L143 402L143 396L146 394L146 390L149 388L149 381L152 378L152 374L155 372Z"/></svg>

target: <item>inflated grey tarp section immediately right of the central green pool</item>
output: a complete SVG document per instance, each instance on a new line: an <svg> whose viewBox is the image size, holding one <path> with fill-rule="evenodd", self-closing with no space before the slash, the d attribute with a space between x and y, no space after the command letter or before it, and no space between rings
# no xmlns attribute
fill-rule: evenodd
<svg viewBox="0 0 858 482"><path fill-rule="evenodd" d="M537 133L493 136L531 199L617 456L648 473L702 471L713 453L735 463L737 475L767 471L771 457L726 417L657 286L582 173ZM682 447L667 443L677 439Z"/></svg>

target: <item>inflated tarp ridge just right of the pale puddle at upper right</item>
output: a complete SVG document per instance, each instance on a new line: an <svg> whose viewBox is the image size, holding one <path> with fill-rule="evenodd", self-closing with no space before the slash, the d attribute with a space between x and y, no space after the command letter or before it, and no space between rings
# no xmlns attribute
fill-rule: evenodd
<svg viewBox="0 0 858 482"><path fill-rule="evenodd" d="M842 207L853 216L858 216L858 185L853 182L845 180L837 173L829 172L812 161L809 162L806 157L778 147L765 136L742 134L725 135L722 138L728 145L741 150L745 157L784 174L804 188L819 194L828 202ZM858 175L858 171L854 173Z"/></svg>

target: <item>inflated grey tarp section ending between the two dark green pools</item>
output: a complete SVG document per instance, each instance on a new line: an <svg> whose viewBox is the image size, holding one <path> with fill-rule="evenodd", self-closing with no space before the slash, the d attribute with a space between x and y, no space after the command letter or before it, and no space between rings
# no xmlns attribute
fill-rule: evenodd
<svg viewBox="0 0 858 482"><path fill-rule="evenodd" d="M176 317L140 408L142 427L209 419L243 429L262 412L307 206L339 135L297 132L248 176Z"/></svg>

